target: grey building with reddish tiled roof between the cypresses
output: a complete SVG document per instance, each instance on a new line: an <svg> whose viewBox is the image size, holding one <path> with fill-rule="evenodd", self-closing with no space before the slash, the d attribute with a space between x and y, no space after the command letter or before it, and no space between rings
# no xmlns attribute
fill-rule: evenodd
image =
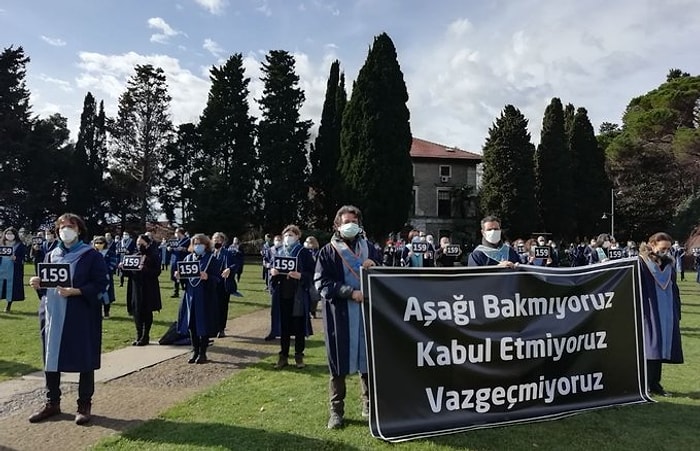
<svg viewBox="0 0 700 451"><path fill-rule="evenodd" d="M411 145L413 206L410 224L453 242L473 242L479 230L476 186L482 156L419 138Z"/></svg>

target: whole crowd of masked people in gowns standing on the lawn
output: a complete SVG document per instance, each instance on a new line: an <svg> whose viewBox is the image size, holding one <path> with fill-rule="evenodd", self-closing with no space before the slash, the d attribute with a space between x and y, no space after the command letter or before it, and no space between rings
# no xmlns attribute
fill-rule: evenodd
<svg viewBox="0 0 700 451"><path fill-rule="evenodd" d="M467 250L424 231L411 230L406 240L392 239L382 248L371 242L362 228L362 213L354 206L341 207L333 222L330 241L320 246L313 236L302 241L294 224L280 234L266 235L262 246L262 278L270 296L270 331L266 340L279 339L275 368L290 364L294 338L294 366L305 367L306 338L313 333L311 319L322 305L326 353L330 370L328 428L344 425L346 378L359 374L362 415L369 415L367 352L361 305L361 268L371 266L452 267L519 265L572 266L596 264L622 257L638 257L642 268L644 327L649 390L666 395L661 386L661 364L681 363L680 295L676 274L683 280L678 261L684 250L665 233L652 235L639 248L628 242L620 248L614 238L601 234L588 244L569 246L560 258L558 246L537 234L528 240L505 240L498 218L481 221L481 242ZM87 244L87 243L90 244ZM115 301L115 280L126 282L126 305L136 329L134 346L150 343L153 312L162 308L159 276L169 271L173 296L180 297L177 329L189 336L192 354L188 363L208 361L213 337L225 337L230 296L240 296L243 252L237 238L222 232L189 235L178 228L172 237L157 240L150 233L87 236L83 220L66 213L55 227L19 239L10 227L0 237L0 288L7 300L24 299L24 261L35 263L30 285L40 297L47 398L44 407L30 417L43 421L60 413L60 373L80 373L76 423L90 421L94 371L100 366L102 321L109 318ZM12 250L10 252L9 250ZM615 251L619 249L619 251ZM700 251L693 250L700 264ZM54 272L51 273L51 270ZM61 272L64 271L64 272ZM60 275L58 281L51 274ZM54 277L55 279L55 277ZM125 280L126 279L126 280ZM55 283L54 283L55 282ZM699 279L700 282L700 279ZM77 300L81 302L74 302Z"/></svg>

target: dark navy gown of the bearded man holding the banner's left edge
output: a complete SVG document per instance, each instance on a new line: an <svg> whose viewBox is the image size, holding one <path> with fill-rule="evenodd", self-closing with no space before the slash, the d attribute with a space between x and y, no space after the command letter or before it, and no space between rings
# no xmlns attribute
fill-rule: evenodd
<svg viewBox="0 0 700 451"><path fill-rule="evenodd" d="M353 248L357 241L350 243ZM367 243L369 258L379 265L381 255L379 255L370 242ZM348 303L355 302L338 296L341 286L347 285L345 282L345 270L343 261L339 257L335 248L329 243L321 248L316 261L316 274L314 276L316 287L325 299L323 307L323 322L326 332L326 354L328 355L328 366L333 376L344 376L350 374L350 330ZM363 318L360 319L364 321ZM364 341L363 341L364 342Z"/></svg>

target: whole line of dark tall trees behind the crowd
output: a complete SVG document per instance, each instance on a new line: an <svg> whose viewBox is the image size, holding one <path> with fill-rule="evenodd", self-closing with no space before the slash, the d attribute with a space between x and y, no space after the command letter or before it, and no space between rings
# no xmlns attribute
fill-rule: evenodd
<svg viewBox="0 0 700 451"><path fill-rule="evenodd" d="M288 223L328 230L344 203L362 208L375 238L406 225L413 187L408 91L384 33L350 98L340 62L331 64L313 140L312 123L299 114L306 98L295 60L284 50L269 51L262 63L259 118L250 114L240 53L210 69L197 123L174 125L163 70L137 65L116 117L86 94L76 142L60 114L32 115L28 62L22 47L0 54L4 226L36 230L69 210L95 231L144 230L160 214L171 225L235 235ZM621 125L604 123L598 134L586 108L553 98L538 146L527 118L506 105L483 146L480 214L499 216L512 238L546 232L588 239L610 229L604 214L614 216L618 240L658 230L684 238L700 217L699 105L700 77L678 69L632 99Z"/></svg>

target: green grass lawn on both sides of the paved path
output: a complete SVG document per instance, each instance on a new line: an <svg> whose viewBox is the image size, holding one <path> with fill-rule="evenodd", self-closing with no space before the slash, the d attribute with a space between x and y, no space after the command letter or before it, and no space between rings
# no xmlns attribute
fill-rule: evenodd
<svg viewBox="0 0 700 451"><path fill-rule="evenodd" d="M262 307L267 298L259 281L259 269L246 268L242 291L246 303L232 304L232 316ZM168 289L170 285L167 286ZM304 370L272 369L273 357L242 370L215 387L164 412L157 419L129 430L119 437L105 439L97 449L116 450L694 450L700 449L700 285L689 273L680 283L683 300L681 321L686 363L665 365L662 383L674 394L658 403L609 408L575 415L557 421L483 429L413 442L388 444L371 437L367 422L360 416L359 381L348 380L345 429L327 430L327 383L325 349L320 335L307 345L308 366ZM250 293L250 296L248 294ZM169 295L164 291L164 295ZM169 298L164 298L169 303ZM174 302L173 300L172 302ZM33 302L26 302L33 304ZM33 307L32 307L33 308ZM164 309L159 327L173 318ZM173 309L175 307L172 307ZM13 306L14 309L14 306ZM115 310L122 310L123 301ZM15 353L0 348L2 375L38 368L36 320L29 309L18 310L9 323L19 331L18 322L31 323L31 339L18 341L26 359L17 366ZM172 310L174 312L174 310ZM116 312L115 312L116 313ZM2 315L2 314L0 314ZM30 317L31 316L31 317ZM5 323L7 315L0 316ZM109 326L111 319L105 323ZM111 346L132 340L131 323L124 337L106 341ZM32 329L33 327L33 329ZM116 328L116 326L114 326ZM120 326L121 327L121 326ZM115 331L105 332L115 334ZM157 333L154 333L156 335ZM7 343L6 328L0 341ZM105 347L106 347L105 346Z"/></svg>

